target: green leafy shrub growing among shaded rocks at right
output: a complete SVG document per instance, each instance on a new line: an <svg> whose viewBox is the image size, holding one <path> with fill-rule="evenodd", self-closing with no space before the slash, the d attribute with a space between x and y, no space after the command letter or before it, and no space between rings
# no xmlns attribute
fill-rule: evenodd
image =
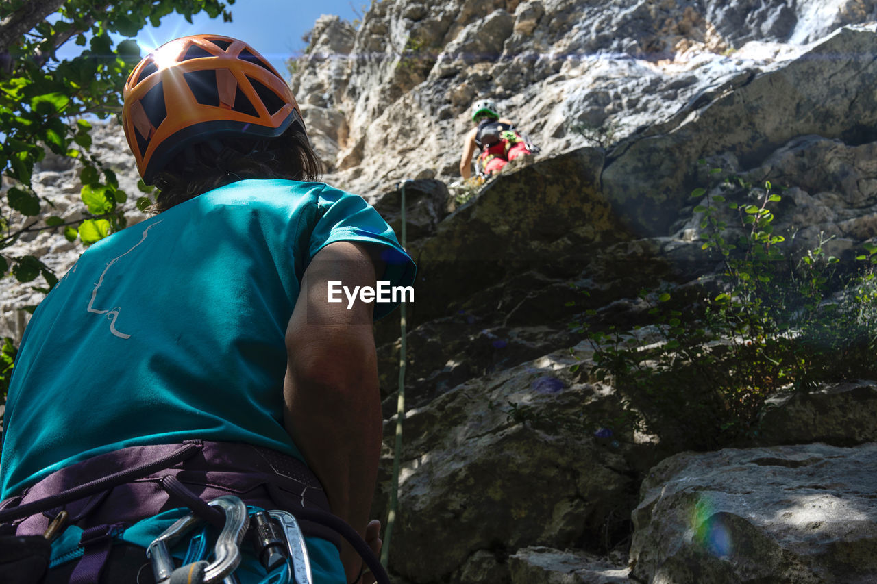
<svg viewBox="0 0 877 584"><path fill-rule="evenodd" d="M877 246L852 267L826 252L824 236L793 253L774 232L771 183L725 182L736 200L692 193L702 249L722 266L702 278L697 305L643 290L648 322L633 330L601 326L595 310L571 324L595 352L588 379L610 380L631 414L611 422L617 431L693 449L752 440L771 395L877 373Z"/></svg>

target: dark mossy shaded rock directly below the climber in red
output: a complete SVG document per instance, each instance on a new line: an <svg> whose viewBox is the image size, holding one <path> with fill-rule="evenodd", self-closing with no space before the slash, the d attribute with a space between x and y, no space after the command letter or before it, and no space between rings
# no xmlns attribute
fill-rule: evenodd
<svg viewBox="0 0 877 584"><path fill-rule="evenodd" d="M446 217L418 258L419 279L428 284L415 307L417 322L439 316L432 307L459 303L561 250L583 253L624 237L600 195L600 167L602 153L593 148L538 160L501 174Z"/></svg>

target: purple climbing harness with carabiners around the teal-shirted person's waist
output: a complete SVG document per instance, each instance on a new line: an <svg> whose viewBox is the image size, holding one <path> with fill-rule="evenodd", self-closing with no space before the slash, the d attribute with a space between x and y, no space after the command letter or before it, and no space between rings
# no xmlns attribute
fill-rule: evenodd
<svg viewBox="0 0 877 584"><path fill-rule="evenodd" d="M118 466L125 470L100 472ZM238 470L230 471L230 466ZM266 473L271 469L276 474ZM202 487L200 495L195 495L176 478L180 474L182 480L198 484L203 480L198 477L207 476L205 472L210 473L209 482L227 484L241 495L228 495L227 488L225 495L217 495L216 488L210 486ZM141 557L148 557L152 564L156 584L236 584L239 580L235 570L244 567L241 544L249 533L253 553L246 554L246 569L254 575L254 562L264 568L267 575L260 584L311 584L304 539L308 532L336 546L338 536L345 538L377 581L389 584L387 573L360 535L324 510L328 509L321 506L327 505L324 499L322 503L314 499L312 493L324 498L321 488L304 486L300 495L289 492L291 486L313 484L308 474L303 463L279 452L203 440L189 440L182 445L131 446L98 455L56 471L25 489L24 494L0 503L0 581L37 583L46 577L48 568L61 566L72 568L71 581L97 581L111 547L124 543L146 548ZM59 488L95 475L100 478L66 490ZM290 495L301 502L296 504L297 499ZM168 509L168 497L185 507L161 510ZM300 507L306 500L307 504ZM131 502L135 502L134 509ZM274 509L280 503L289 510ZM189 513L181 517L179 513L186 508ZM112 524L100 524L102 521ZM172 524L163 529L168 521ZM160 530L158 537L154 535L156 528ZM209 549L209 534L217 531L216 544ZM53 544L49 538L56 538ZM187 538L188 549L177 556L182 557L183 565L175 567L170 550L175 543L183 545ZM20 563L6 559L7 549L37 561L26 565L27 569L36 566L27 580L10 579L20 571Z"/></svg>

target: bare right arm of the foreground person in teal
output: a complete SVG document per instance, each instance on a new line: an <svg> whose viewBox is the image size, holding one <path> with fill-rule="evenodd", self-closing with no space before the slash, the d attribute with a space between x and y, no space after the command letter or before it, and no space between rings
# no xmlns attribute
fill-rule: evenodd
<svg viewBox="0 0 877 584"><path fill-rule="evenodd" d="M326 490L332 512L365 535L381 452L381 396L373 303L328 302L328 281L375 285L370 246L342 241L320 250L304 273L286 331L283 421ZM379 267L380 269L381 267ZM344 296L344 295L342 295ZM347 580L360 559L344 542Z"/></svg>

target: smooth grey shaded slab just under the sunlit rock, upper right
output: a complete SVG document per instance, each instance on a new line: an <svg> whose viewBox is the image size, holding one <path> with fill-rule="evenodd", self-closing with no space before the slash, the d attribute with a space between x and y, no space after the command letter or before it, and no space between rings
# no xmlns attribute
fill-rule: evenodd
<svg viewBox="0 0 877 584"><path fill-rule="evenodd" d="M603 191L635 231L660 235L695 188L696 160L731 153L745 167L797 136L841 138L877 123L877 65L866 59L875 27L842 29L780 70L756 75L681 119L656 127L610 154ZM838 63L832 55L850 55ZM831 82L828 80L831 79ZM823 80L823 81L819 81ZM684 118L683 118L684 117ZM674 152L673 160L666 153Z"/></svg>

